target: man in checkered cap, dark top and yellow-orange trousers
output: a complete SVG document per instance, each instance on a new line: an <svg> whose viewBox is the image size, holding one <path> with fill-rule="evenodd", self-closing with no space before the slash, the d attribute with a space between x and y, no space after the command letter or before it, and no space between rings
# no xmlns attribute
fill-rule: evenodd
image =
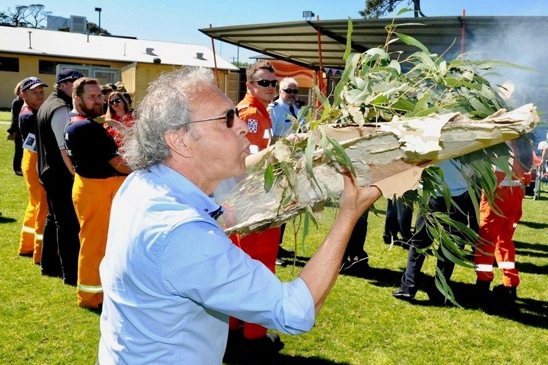
<svg viewBox="0 0 548 365"><path fill-rule="evenodd" d="M38 77L27 77L21 81L21 99L25 102L19 113L19 129L23 138L23 177L29 192L29 203L23 218L19 255L32 255L35 264L42 256L42 235L47 216L47 199L44 186L38 179L38 153L36 153L36 114L44 103L44 87Z"/></svg>

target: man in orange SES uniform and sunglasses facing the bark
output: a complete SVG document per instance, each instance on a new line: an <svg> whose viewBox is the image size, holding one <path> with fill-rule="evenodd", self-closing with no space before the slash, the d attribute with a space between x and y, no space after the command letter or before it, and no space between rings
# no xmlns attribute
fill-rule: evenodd
<svg viewBox="0 0 548 365"><path fill-rule="evenodd" d="M276 74L272 64L266 60L259 60L247 67L246 71L247 94L236 105L240 119L247 123L249 132L247 139L251 142L251 153L257 153L269 147L272 138L272 123L266 107L274 99L276 93ZM249 234L245 237L232 236L231 240L253 259L262 262L273 273L279 247L279 227L266 231ZM254 323L242 323L236 318L230 318L229 329L231 338L227 351L240 351L237 344L242 340L241 351L256 353L277 353L283 343L275 333L266 333L266 328ZM234 332L234 331L238 332ZM242 331L240 333L239 331ZM240 336L243 338L240 338ZM236 340L234 340L236 338ZM232 347L232 349L230 349Z"/></svg>

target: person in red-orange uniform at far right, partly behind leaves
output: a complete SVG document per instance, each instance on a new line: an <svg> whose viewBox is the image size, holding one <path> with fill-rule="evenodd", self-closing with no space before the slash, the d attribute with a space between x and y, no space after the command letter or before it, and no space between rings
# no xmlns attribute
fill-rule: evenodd
<svg viewBox="0 0 548 365"><path fill-rule="evenodd" d="M519 272L516 268L516 249L512 236L521 218L521 203L525 186L531 183L532 147L526 138L508 142L511 157L508 164L512 177L495 168L499 182L495 190L495 210L490 207L485 192L479 205L479 240L475 251L476 288L480 301L485 301L493 274L493 260L503 274L503 285L495 286L493 294L500 301L512 303L516 300ZM498 210L498 212L497 212Z"/></svg>

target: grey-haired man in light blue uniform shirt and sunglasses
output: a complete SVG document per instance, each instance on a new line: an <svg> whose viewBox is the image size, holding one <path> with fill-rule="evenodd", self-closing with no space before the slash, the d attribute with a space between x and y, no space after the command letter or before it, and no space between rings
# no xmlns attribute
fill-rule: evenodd
<svg viewBox="0 0 548 365"><path fill-rule="evenodd" d="M303 118L297 118L299 107L295 104L299 94L299 84L292 77L279 81L279 98L269 104L273 136L280 138L297 133L303 126ZM297 123L298 121L298 123Z"/></svg>

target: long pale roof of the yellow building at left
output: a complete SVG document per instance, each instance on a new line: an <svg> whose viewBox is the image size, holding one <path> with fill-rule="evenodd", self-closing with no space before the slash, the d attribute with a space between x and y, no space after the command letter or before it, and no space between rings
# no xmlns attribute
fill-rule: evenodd
<svg viewBox="0 0 548 365"><path fill-rule="evenodd" d="M213 52L203 45L0 26L0 51L55 57L153 63L214 68ZM202 57L200 57L200 54ZM203 58L201 60L200 58ZM219 55L217 68L238 70Z"/></svg>

